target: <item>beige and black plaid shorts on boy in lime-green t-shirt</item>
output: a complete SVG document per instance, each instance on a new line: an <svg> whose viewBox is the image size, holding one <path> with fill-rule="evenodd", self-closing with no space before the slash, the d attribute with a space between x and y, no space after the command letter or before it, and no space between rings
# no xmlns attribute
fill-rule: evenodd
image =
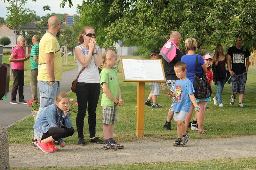
<svg viewBox="0 0 256 170"><path fill-rule="evenodd" d="M102 124L116 124L117 105L102 107Z"/></svg>

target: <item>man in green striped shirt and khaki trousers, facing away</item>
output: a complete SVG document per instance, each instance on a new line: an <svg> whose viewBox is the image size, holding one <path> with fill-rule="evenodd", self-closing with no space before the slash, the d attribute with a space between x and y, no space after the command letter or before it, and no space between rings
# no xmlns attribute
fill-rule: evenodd
<svg viewBox="0 0 256 170"><path fill-rule="evenodd" d="M36 102L38 102L37 97L37 74L38 74L38 52L39 52L39 36L34 35L32 37L32 43L34 46L31 48L30 52L30 67L31 67L31 73L30 73L30 86L32 91L32 98L35 99Z"/></svg>

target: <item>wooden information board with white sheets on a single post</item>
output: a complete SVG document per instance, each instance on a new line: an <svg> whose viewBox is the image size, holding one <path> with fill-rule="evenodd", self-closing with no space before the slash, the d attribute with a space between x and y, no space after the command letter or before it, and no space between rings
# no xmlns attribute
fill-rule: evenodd
<svg viewBox="0 0 256 170"><path fill-rule="evenodd" d="M137 84L137 126L136 136L144 136L145 82L166 82L164 67L160 59L121 58L124 82Z"/></svg>

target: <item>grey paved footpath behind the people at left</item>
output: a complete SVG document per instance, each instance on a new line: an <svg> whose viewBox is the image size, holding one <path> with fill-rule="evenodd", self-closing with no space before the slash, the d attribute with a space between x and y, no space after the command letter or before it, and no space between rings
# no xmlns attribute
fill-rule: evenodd
<svg viewBox="0 0 256 170"><path fill-rule="evenodd" d="M71 83L77 76L77 68L65 71L60 82L60 92L68 92L71 90ZM12 89L9 90L8 98L0 100L0 125L10 127L15 122L21 121L31 115L31 109L26 104L10 104ZM31 100L30 83L24 85L25 101ZM39 94L38 94L39 97ZM19 102L19 95L17 93L16 101Z"/></svg>

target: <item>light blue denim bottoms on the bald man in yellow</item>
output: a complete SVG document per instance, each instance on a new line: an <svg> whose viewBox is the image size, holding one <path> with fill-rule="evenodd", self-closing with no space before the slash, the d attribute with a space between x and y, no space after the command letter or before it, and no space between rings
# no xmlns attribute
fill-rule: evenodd
<svg viewBox="0 0 256 170"><path fill-rule="evenodd" d="M49 86L50 81L38 81L38 90L40 93L40 106L36 117L49 105L53 104L56 96L60 93L60 81L55 81Z"/></svg>

